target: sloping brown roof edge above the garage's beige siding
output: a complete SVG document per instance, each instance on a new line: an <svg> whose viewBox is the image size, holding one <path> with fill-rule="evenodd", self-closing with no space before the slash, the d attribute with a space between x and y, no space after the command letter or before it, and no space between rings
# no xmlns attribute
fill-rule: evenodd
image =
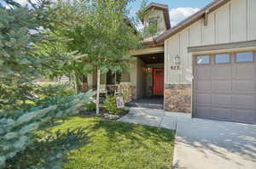
<svg viewBox="0 0 256 169"><path fill-rule="evenodd" d="M153 42L154 44L160 44L165 42L165 40L173 35L177 34L179 31L182 31L189 25L194 24L197 20L201 20L204 15L207 13L211 13L212 11L216 10L217 8L222 7L225 3L230 2L230 0L214 0L212 3L208 4L206 7L202 8L200 11L192 14L188 19L183 20L181 23L177 24L176 26L172 27L171 29L163 32L158 37L154 37Z"/></svg>

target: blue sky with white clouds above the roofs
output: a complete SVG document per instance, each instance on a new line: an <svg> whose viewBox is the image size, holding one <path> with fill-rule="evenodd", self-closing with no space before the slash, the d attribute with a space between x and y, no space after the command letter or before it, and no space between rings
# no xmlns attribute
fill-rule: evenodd
<svg viewBox="0 0 256 169"><path fill-rule="evenodd" d="M15 0L18 3L26 4L26 0ZM148 3L162 3L169 7L171 24L177 25L180 21L188 18L207 4L214 0L148 0ZM135 0L131 3L131 15L135 15L143 0ZM142 25L140 25L142 26Z"/></svg>

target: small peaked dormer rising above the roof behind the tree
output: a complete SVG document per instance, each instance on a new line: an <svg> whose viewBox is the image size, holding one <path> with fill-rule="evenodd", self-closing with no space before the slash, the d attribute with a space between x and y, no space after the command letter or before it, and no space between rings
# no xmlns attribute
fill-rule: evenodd
<svg viewBox="0 0 256 169"><path fill-rule="evenodd" d="M158 30L156 34L169 30L171 28L171 23L168 5L150 3L148 7L145 8L145 14L142 21L144 27L149 27L150 25L156 26Z"/></svg>

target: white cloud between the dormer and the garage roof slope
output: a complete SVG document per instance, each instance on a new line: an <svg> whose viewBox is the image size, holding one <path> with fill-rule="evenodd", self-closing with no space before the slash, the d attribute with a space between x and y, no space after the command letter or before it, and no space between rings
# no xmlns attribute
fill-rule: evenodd
<svg viewBox="0 0 256 169"><path fill-rule="evenodd" d="M185 20L199 10L200 8L172 8L169 13L172 26L177 25L180 21Z"/></svg>

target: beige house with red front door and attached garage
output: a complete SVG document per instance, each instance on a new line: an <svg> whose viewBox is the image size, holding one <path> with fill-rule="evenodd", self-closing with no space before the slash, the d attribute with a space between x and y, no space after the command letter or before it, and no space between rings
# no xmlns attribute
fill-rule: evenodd
<svg viewBox="0 0 256 169"><path fill-rule="evenodd" d="M255 0L215 0L172 26L168 6L150 3L143 25L160 31L131 51L130 72L102 83L130 84L132 99L163 95L170 112L256 124L255 8Z"/></svg>

